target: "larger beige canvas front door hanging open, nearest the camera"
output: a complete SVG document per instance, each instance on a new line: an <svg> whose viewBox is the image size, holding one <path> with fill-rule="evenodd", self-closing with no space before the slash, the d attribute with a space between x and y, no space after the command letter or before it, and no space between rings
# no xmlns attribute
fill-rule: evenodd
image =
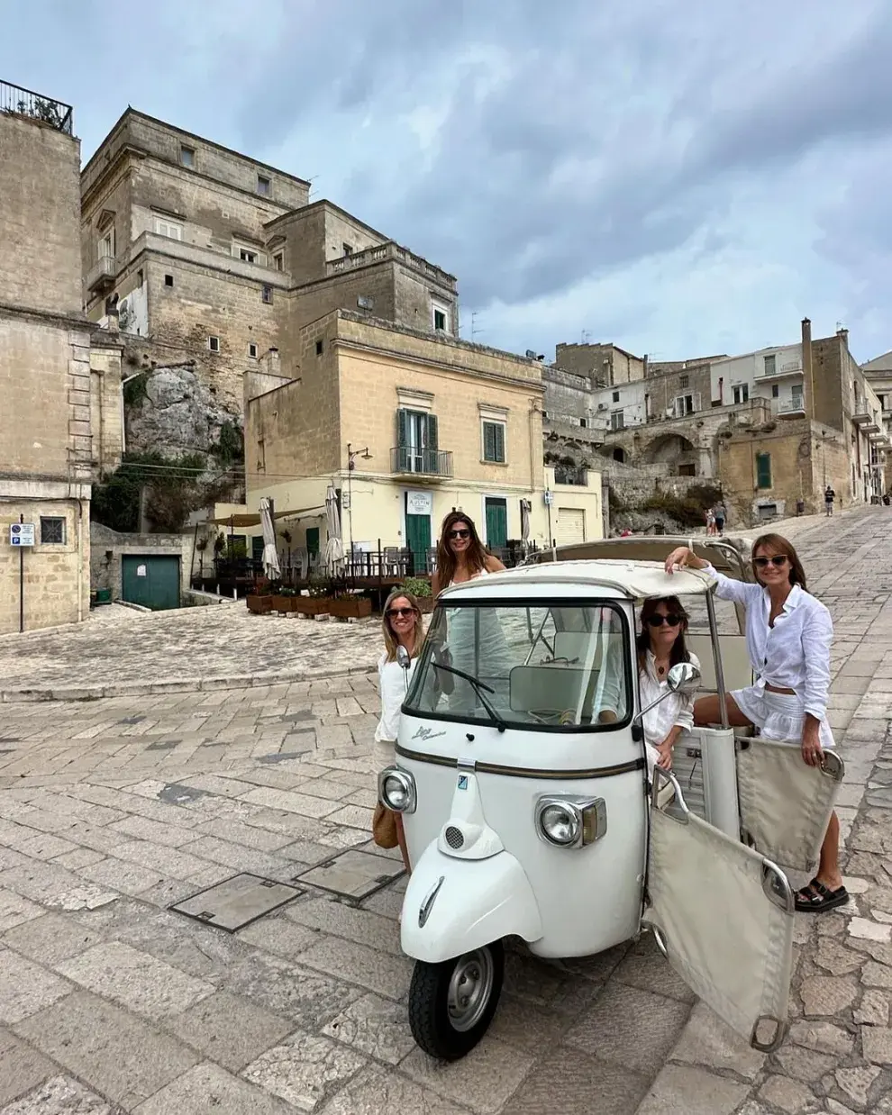
<svg viewBox="0 0 892 1115"><path fill-rule="evenodd" d="M694 814L651 811L644 922L691 990L747 1040L766 1018L779 1040L787 1018L792 901L769 899L764 880L763 856L739 841Z"/></svg>

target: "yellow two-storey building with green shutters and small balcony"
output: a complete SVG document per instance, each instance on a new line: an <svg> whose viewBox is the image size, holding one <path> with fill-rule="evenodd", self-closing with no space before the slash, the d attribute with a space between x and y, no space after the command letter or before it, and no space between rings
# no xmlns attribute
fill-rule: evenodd
<svg viewBox="0 0 892 1115"><path fill-rule="evenodd" d="M417 571L454 507L496 549L525 500L540 545L602 535L599 475L543 465L536 360L336 310L301 331L300 379L253 375L245 394L248 507L272 497L294 547L324 550L332 481L345 549L406 547Z"/></svg>

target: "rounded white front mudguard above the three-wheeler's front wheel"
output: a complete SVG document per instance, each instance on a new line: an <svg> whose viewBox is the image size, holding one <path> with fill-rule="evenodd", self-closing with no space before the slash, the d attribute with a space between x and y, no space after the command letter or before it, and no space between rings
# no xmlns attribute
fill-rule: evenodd
<svg viewBox="0 0 892 1115"><path fill-rule="evenodd" d="M539 903L526 873L510 852L457 860L432 842L409 876L400 943L414 960L439 963L500 941L542 937Z"/></svg>

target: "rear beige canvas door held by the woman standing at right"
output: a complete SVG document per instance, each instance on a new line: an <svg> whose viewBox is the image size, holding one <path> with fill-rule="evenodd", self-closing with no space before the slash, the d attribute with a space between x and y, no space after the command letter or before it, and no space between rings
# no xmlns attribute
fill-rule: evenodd
<svg viewBox="0 0 892 1115"><path fill-rule="evenodd" d="M798 745L752 739L737 756L740 821L763 855L783 867L814 871L843 776L842 759L809 767Z"/></svg>

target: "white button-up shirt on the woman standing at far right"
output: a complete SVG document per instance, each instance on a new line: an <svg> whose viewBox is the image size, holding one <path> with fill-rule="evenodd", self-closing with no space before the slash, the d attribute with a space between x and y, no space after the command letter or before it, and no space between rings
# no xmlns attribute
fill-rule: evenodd
<svg viewBox="0 0 892 1115"><path fill-rule="evenodd" d="M772 599L764 585L735 581L711 565L707 572L718 582L719 600L733 600L746 609L746 649L757 685L792 689L806 712L826 719L833 620L824 604L794 584L770 628Z"/></svg>

